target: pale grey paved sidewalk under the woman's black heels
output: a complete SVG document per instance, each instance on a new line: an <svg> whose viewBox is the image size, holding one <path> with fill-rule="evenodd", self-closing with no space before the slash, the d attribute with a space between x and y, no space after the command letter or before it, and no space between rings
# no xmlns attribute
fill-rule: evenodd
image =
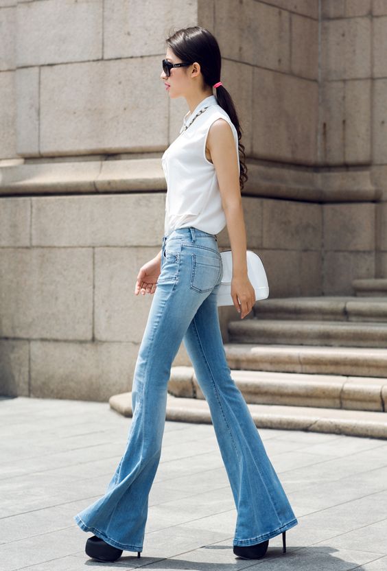
<svg viewBox="0 0 387 571"><path fill-rule="evenodd" d="M167 421L141 558L84 553L73 515L102 496L132 419L108 404L0 399L0 571L387 570L387 441L259 429L298 525L233 554L235 504L212 425ZM87 567L86 567L87 566Z"/></svg>

